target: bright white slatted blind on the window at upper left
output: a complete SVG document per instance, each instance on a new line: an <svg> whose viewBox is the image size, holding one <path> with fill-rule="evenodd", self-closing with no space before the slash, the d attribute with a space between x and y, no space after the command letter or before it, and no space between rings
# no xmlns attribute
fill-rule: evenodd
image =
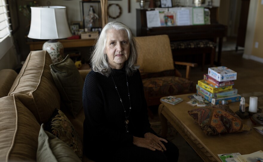
<svg viewBox="0 0 263 162"><path fill-rule="evenodd" d="M0 42L11 36L10 23L5 0L0 0Z"/></svg>

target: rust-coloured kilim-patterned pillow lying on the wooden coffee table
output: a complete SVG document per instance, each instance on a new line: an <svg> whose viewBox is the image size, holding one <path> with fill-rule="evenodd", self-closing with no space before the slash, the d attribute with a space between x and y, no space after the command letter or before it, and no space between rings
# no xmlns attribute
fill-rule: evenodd
<svg viewBox="0 0 263 162"><path fill-rule="evenodd" d="M228 105L217 105L212 108L196 108L188 111L188 113L195 119L205 135L237 133L251 130Z"/></svg>

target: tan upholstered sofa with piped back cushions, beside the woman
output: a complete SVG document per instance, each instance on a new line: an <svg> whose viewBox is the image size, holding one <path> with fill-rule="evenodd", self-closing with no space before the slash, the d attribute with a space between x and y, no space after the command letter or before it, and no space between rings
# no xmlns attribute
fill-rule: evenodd
<svg viewBox="0 0 263 162"><path fill-rule="evenodd" d="M58 88L53 79L54 75L51 74L51 64L51 58L46 51L32 51L19 74L11 69L0 71L0 161L36 161L39 156L45 155L37 152L40 147L39 132L41 124L48 123L51 120L50 118L56 108L66 115L73 125L72 128L75 129L82 140L82 126L85 118L83 108L79 108L74 117L71 113L72 110L65 106L73 105L74 101L71 101L71 103L64 102L64 96L61 97L61 87ZM77 74L84 80L89 71L80 70ZM65 80L67 79L65 78ZM63 91L67 91L65 89ZM82 89L80 89L78 94L82 93ZM59 119L58 121L62 120ZM72 130L70 129L70 131ZM66 135L68 135L67 131L64 132ZM50 134L45 132L45 137L49 137ZM62 138L62 135L59 136L59 138ZM45 142L51 141L51 139L49 138ZM75 152L77 149L82 151L81 145L82 143L78 143L78 146L75 146L72 151ZM52 149L55 150L55 148L51 148L52 143L49 143L48 146L51 151L53 151ZM59 144L55 144L54 147L58 146L62 148L62 145ZM63 152L61 148L56 148L59 150L57 153ZM55 153L53 154L55 155ZM63 153L59 155L59 158L73 161L73 156L70 157L70 155L70 153ZM91 160L83 155L82 161Z"/></svg>

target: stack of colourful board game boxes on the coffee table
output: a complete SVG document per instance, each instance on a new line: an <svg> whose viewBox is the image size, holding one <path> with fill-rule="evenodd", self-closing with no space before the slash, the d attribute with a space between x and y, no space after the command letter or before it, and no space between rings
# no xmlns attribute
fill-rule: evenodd
<svg viewBox="0 0 263 162"><path fill-rule="evenodd" d="M213 105L221 104L222 100L229 103L240 101L238 90L233 88L237 73L225 66L208 68L203 80L198 80L197 94Z"/></svg>

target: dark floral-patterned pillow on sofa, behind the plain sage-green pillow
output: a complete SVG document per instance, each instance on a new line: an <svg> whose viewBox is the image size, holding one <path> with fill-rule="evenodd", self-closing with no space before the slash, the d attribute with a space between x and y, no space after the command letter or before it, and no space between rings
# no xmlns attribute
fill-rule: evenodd
<svg viewBox="0 0 263 162"><path fill-rule="evenodd" d="M45 130L65 142L73 150L73 152L75 152L77 156L82 159L82 140L76 132L74 126L61 110L56 109L54 111L49 122L45 123Z"/></svg>

